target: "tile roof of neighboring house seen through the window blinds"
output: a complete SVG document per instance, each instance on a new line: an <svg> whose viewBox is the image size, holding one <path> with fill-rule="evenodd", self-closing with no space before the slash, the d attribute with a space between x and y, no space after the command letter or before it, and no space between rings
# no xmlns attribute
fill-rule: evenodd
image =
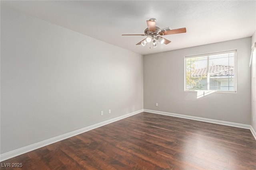
<svg viewBox="0 0 256 170"><path fill-rule="evenodd" d="M234 66L213 65L209 67L210 76L234 76ZM192 70L192 76L207 75L207 67Z"/></svg>

